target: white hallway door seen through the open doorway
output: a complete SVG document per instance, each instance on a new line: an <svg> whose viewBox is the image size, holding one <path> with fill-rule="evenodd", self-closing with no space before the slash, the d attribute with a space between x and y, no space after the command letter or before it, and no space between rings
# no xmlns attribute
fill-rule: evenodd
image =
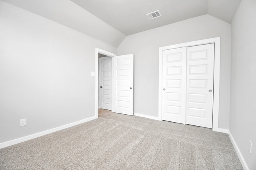
<svg viewBox="0 0 256 170"><path fill-rule="evenodd" d="M99 63L100 63L100 101L99 101L99 106L101 109L107 109L111 110L111 88L112 88L112 60L111 57L102 57L99 58Z"/></svg>

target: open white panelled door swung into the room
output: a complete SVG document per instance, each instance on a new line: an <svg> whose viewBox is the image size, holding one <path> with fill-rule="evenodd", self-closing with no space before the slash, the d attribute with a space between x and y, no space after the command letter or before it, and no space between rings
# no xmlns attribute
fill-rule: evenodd
<svg viewBox="0 0 256 170"><path fill-rule="evenodd" d="M133 115L133 54L112 58L112 112Z"/></svg>

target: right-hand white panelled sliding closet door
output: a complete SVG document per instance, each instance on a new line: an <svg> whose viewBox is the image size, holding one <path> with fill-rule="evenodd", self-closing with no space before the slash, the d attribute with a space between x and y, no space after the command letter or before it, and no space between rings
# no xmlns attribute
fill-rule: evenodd
<svg viewBox="0 0 256 170"><path fill-rule="evenodd" d="M186 124L212 128L214 44L187 48Z"/></svg>

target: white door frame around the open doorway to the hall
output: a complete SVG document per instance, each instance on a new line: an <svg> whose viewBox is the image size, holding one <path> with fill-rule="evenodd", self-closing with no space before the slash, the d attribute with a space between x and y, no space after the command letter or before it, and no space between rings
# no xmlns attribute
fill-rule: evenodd
<svg viewBox="0 0 256 170"><path fill-rule="evenodd" d="M114 57L116 54L95 48L95 117L99 117L99 54Z"/></svg>

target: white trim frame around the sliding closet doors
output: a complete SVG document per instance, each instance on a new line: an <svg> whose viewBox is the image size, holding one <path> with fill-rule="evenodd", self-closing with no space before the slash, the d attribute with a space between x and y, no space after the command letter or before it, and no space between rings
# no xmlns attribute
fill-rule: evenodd
<svg viewBox="0 0 256 170"><path fill-rule="evenodd" d="M223 132L218 128L219 123L219 96L220 96L220 37L169 45L159 48L159 86L158 86L158 118L162 120L162 55L164 50L176 49L214 43L214 94L212 112L212 130Z"/></svg>

